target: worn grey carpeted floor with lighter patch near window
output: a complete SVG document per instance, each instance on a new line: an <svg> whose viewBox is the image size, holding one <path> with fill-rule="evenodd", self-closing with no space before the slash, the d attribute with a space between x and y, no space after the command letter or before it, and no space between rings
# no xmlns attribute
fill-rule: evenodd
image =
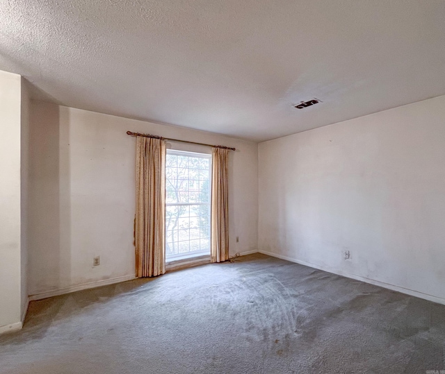
<svg viewBox="0 0 445 374"><path fill-rule="evenodd" d="M266 255L32 302L0 373L426 373L445 306Z"/></svg>

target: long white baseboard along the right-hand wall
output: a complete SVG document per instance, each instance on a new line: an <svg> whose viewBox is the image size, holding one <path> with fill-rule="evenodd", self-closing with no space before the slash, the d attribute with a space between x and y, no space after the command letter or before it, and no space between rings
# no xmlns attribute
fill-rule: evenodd
<svg viewBox="0 0 445 374"><path fill-rule="evenodd" d="M414 289L407 289L407 288L404 288L404 287L401 287L401 286L396 286L394 284L380 282L380 280L374 280L374 279L371 279L371 278L362 277L361 275L356 275L356 274L353 274L353 273L346 273L345 271L328 268L326 266L318 266L316 264L311 264L309 262L296 260L295 258L291 258L291 257L288 257L288 256L279 255L277 253L272 253L272 252L267 252L266 250L259 250L259 253L263 253L264 255L268 255L268 256L272 256L272 257L277 257L277 258L280 258L282 260L286 260L286 261L290 261L290 262L296 262L296 264L309 266L309 267L314 268L314 269L327 271L327 273L333 273L333 274L341 275L341 276L346 277L346 278L351 278L351 279L355 279L355 280L361 280L362 282L365 282L365 283L370 283L370 284L374 284L375 286L383 287L383 288L386 288L386 289L391 289L391 291L401 292L402 294L415 296L416 298L423 298L425 300L432 301L434 303L445 305L445 299L444 298L439 298L438 296L432 296L430 294L424 294L423 292L414 291Z"/></svg>

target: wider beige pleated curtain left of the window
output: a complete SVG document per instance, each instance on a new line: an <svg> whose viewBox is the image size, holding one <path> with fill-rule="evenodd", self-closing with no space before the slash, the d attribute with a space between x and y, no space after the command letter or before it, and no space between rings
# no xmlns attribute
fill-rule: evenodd
<svg viewBox="0 0 445 374"><path fill-rule="evenodd" d="M136 138L136 276L165 273L165 142Z"/></svg>

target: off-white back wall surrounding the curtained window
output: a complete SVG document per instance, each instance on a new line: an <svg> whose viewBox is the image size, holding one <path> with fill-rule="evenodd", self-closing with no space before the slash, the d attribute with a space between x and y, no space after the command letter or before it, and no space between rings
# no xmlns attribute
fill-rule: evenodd
<svg viewBox="0 0 445 374"><path fill-rule="evenodd" d="M236 147L230 253L257 249L257 144L31 101L30 294L134 274L136 139L127 130Z"/></svg>

